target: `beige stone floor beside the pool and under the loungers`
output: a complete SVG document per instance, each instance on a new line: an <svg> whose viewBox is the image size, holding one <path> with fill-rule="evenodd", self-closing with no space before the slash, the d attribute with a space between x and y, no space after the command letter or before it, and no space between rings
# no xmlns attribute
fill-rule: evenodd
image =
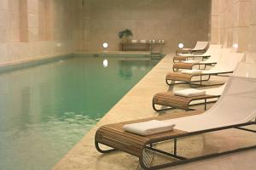
<svg viewBox="0 0 256 170"><path fill-rule="evenodd" d="M83 139L76 144L72 150L69 150L66 156L61 161L55 164L55 170L69 169L138 169L138 159L135 156L130 156L123 152L114 152L111 154L102 155L97 152L94 147L94 135L96 129L104 124L112 122L123 122L134 119L145 118L149 116L158 116L152 109L151 100L154 94L164 92L169 89L165 83L166 72L172 71L172 54L167 54L146 77L137 83L128 94L125 94L123 99L113 106L108 111L106 116L102 117L101 121L87 133ZM222 81L222 80L218 80ZM178 85L174 90L188 88L188 86ZM172 90L172 89L169 89ZM203 110L203 106L196 106L196 109ZM169 114L172 111L166 111L160 114ZM176 110L177 111L177 110ZM195 156L202 153L209 153L216 150L225 150L240 144L255 143L255 135L252 133L241 133L237 130L227 130L221 133L207 133L197 135L190 139L182 139L179 142L180 150L178 153L183 156ZM243 140L242 140L243 139ZM244 140L245 139L245 140ZM236 141L236 143L235 143ZM158 144L157 147L166 148L172 151L172 144ZM195 151L195 149L197 151ZM205 161L196 161L182 166L169 167L166 169L175 170L251 170L256 169L256 150L249 150L228 156L219 156ZM162 161L168 161L165 157L154 155L153 164Z"/></svg>

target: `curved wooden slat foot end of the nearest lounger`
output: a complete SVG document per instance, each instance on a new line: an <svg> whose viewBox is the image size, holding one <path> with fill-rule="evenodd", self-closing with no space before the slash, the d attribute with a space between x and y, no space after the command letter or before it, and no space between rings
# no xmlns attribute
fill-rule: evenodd
<svg viewBox="0 0 256 170"><path fill-rule="evenodd" d="M95 136L96 150L102 153L108 153L113 150L125 151L131 154L132 156L139 157L139 161L142 167L147 169L147 167L143 166L144 165L143 150L145 148L148 148L148 144L151 145L160 141L173 139L175 137L178 137L179 135L186 134L187 132L174 129L171 132L157 133L157 134L148 135L148 136L140 136L134 133L125 132L123 130L123 126L125 124L131 124L136 122L147 122L150 120L162 121L162 120L167 120L172 118L178 118L183 116L193 116L198 114L201 114L201 111L187 111L187 112L180 112L178 114L169 114L166 116L156 116L156 117L150 117L150 118L140 119L136 121L119 122L119 123L104 125L98 128L98 130L96 131L96 136ZM107 145L113 149L102 150L99 144ZM176 157L175 154L172 154L172 156ZM177 156L177 158L181 158L181 157Z"/></svg>

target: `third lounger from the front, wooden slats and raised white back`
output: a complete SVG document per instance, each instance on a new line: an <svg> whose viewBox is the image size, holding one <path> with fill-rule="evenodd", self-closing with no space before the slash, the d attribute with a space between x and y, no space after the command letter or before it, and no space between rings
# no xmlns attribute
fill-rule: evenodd
<svg viewBox="0 0 256 170"><path fill-rule="evenodd" d="M224 55L221 58L221 60L218 62L218 64L215 65L211 70L202 71L200 74L185 74L182 72L169 72L166 74L166 84L174 85L179 83L187 83L191 87L193 85L206 86L206 85L203 85L202 82L208 81L211 78L211 76L220 76L220 77L228 76L227 74L232 73L236 69L236 65L238 65L242 59L244 59L244 54L238 54L238 53L227 54L227 55ZM193 77L200 77L200 80L192 81ZM207 77L207 78L203 79L203 77ZM175 81L180 81L180 82L175 83ZM200 84L195 82L200 82ZM210 84L207 86L212 86L212 85L221 85L221 83Z"/></svg>

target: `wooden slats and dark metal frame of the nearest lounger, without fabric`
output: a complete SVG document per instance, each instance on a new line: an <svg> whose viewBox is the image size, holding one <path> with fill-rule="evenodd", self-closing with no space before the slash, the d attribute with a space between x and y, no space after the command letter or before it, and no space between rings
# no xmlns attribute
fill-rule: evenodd
<svg viewBox="0 0 256 170"><path fill-rule="evenodd" d="M189 136L194 136L197 134L201 133L211 133L211 132L218 132L221 130L225 129L230 129L230 128L236 128L240 130L244 130L247 132L251 133L256 133L255 130L248 129L245 126L248 125L256 125L256 121L251 121L251 122L246 122L246 123L241 123L241 124L236 124L236 125L231 125L231 126L224 126L224 127L215 127L207 130L200 130L200 131L195 131L195 132L185 132L181 131L178 129L174 129L172 132L166 132L166 133L157 133L154 135L149 135L149 136L140 136L137 134L133 133L128 133L123 131L122 127L125 124L130 124L130 123L135 123L135 122L145 122L149 120L166 120L170 118L177 118L177 117L182 117L182 116L192 116L199 114L198 111L189 111L189 112L183 112L179 113L178 115L166 115L166 116L157 116L157 117L152 117L152 118L147 118L147 119L141 119L137 121L131 121L131 122L119 122L119 123L114 123L114 124L109 124L100 127L95 136L95 146L96 150L98 150L101 153L109 153L114 150L120 150L124 151L128 154L131 154L132 156L137 156L139 158L139 163L141 167L143 167L145 170L153 170L153 169L159 169L159 168L164 168L164 167L173 167L177 166L180 164L185 164L189 163L192 161L200 161L204 160L207 158L211 157L216 157L216 156L224 156L230 153L236 153L242 150L252 150L256 149L256 144L253 144L251 146L246 146L246 147L241 147L237 148L234 150L227 150L223 152L218 152L218 153L212 153L204 156L195 156L191 158L179 156L177 154L177 141L178 139L182 139L184 137L189 137ZM167 140L173 140L173 152L169 153L166 152L165 150L159 150L154 148L154 144L157 144L159 142L167 141ZM99 146L99 144L104 144L107 145L113 149L109 150L102 150ZM143 161L143 152L144 150L153 150L155 152L160 153L161 155L164 156L170 156L172 158L175 158L177 161L172 161L172 162L167 162L164 164L160 165L155 165L152 167L147 167Z"/></svg>

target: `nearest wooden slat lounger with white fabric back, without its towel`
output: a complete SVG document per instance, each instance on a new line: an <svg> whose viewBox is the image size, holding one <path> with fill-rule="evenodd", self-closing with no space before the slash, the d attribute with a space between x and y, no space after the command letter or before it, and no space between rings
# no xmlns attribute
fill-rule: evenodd
<svg viewBox="0 0 256 170"><path fill-rule="evenodd" d="M244 85L244 86L243 86ZM247 87L247 88L244 88ZM254 141L253 145L242 146L233 150L218 151L204 156L184 157L177 153L177 142L183 137L189 137L201 133L218 132L224 129L236 128L238 130L256 133L255 130L246 127L248 125L256 125L256 78L246 77L230 77L227 82L224 94L218 99L218 103L202 114L197 111L182 112L173 115L157 116L131 122L119 122L100 127L96 131L95 145L96 150L102 153L108 153L113 150L120 150L137 156L140 165L144 169L159 169L164 167L172 167L191 161L199 161L214 156L222 156L235 153L241 150L256 149ZM239 104L239 105L237 105ZM128 133L123 130L125 124L135 122L147 122L149 120L164 120L175 124L173 131L165 133L157 133L154 135L141 136L135 133ZM154 144L173 140L174 149L172 153L166 150L154 148ZM236 139L232 139L232 143L236 143ZM99 144L104 144L112 149L102 150ZM177 161L171 161L160 165L146 166L143 161L144 150L153 150L163 156L170 156Z"/></svg>

